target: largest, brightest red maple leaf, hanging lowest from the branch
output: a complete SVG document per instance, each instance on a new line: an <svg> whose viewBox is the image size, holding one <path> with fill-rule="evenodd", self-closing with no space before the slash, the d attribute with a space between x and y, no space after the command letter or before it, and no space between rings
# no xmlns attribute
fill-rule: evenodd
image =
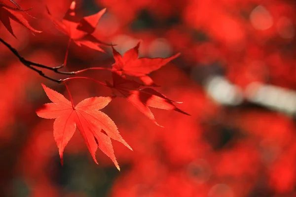
<svg viewBox="0 0 296 197"><path fill-rule="evenodd" d="M119 170L110 138L123 143L131 150L132 148L121 137L111 118L99 111L99 109L104 108L111 101L111 98L88 98L74 106L71 101L60 93L47 88L43 84L42 87L52 103L44 104L36 113L41 118L55 119L53 134L59 148L61 163L63 164L64 149L73 136L77 126L95 163L98 164L95 153L99 146L99 148L111 158Z"/></svg>

